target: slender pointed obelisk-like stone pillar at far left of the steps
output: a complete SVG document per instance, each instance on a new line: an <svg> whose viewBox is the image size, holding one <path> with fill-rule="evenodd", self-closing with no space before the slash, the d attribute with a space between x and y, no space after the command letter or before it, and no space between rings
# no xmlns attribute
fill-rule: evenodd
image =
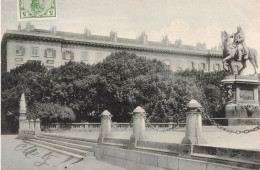
<svg viewBox="0 0 260 170"><path fill-rule="evenodd" d="M25 131L26 128L26 103L24 93L20 99L20 115L19 115L19 133Z"/></svg>

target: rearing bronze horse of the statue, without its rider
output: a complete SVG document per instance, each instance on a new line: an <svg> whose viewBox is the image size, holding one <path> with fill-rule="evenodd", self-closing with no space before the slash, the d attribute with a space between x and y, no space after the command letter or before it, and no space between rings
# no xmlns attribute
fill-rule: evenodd
<svg viewBox="0 0 260 170"><path fill-rule="evenodd" d="M233 43L229 43L230 41L230 35L228 35L228 33L226 31L221 32L221 36L222 36L222 45L223 45L223 69L227 70L225 68L225 63L228 64L228 70L231 74L234 74L233 71L233 67L231 64L232 60L235 60L236 57L236 45L234 45ZM254 71L255 71L255 75L257 75L257 51L253 48L249 48L249 47L245 47L246 51L247 51L247 57L242 57L241 60L241 64L242 64L242 68L238 70L238 74L240 75L241 72L247 67L246 66L246 60L245 58L248 58L248 60L250 61L250 63L253 65L254 67Z"/></svg>

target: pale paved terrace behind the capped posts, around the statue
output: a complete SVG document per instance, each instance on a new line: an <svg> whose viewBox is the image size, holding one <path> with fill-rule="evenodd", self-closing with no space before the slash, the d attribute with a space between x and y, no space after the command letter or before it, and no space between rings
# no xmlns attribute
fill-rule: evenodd
<svg viewBox="0 0 260 170"><path fill-rule="evenodd" d="M251 129L255 126L228 126L228 129L232 130L245 130ZM116 138L130 139L132 135L131 130L123 132L113 132L112 136ZM64 131L59 133L52 133L62 136L71 136L86 139L97 139L99 132L70 132ZM249 149L249 150L259 150L260 151L260 130L251 132L248 134L234 134L228 133L223 130L218 129L216 126L203 126L203 135L207 141L207 145L227 147L227 148L238 148L238 149ZM157 142L167 142L167 143L181 143L181 140L185 136L185 129L180 128L175 131L170 132L157 132L157 131L147 131L146 140L157 141Z"/></svg>

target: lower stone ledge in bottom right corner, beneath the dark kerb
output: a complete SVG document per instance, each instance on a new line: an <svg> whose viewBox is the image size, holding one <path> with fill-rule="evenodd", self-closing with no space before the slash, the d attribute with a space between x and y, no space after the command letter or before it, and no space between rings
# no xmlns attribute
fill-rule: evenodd
<svg viewBox="0 0 260 170"><path fill-rule="evenodd" d="M209 155L209 154L202 154L202 153L192 153L191 158L207 161L207 162L215 162L220 164L226 164L231 166L237 166L242 168L250 168L250 169L259 169L260 163L256 163L253 161L242 160L242 159L234 159L234 158L227 158L221 157L217 155Z"/></svg>

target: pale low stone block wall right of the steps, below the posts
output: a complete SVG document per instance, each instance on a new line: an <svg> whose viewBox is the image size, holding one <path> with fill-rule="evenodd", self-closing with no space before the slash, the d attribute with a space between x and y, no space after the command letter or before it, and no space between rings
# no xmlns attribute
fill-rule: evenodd
<svg viewBox="0 0 260 170"><path fill-rule="evenodd" d="M95 156L98 160L102 160L116 166L133 170L245 170L245 168L233 167L213 162L192 160L108 146L99 145L96 146L94 150Z"/></svg>

